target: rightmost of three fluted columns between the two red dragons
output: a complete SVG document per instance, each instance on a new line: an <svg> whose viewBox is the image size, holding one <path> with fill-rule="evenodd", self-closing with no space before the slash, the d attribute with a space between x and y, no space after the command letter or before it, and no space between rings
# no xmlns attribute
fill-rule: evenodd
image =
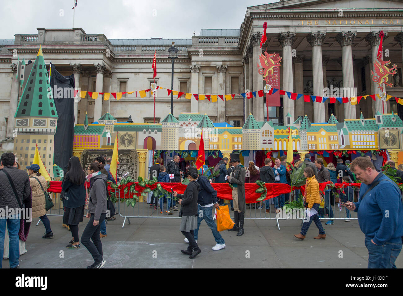
<svg viewBox="0 0 403 296"><path fill-rule="evenodd" d="M357 94L354 88L354 68L353 68L353 51L351 45L357 33L341 32L336 36L336 41L341 46L341 62L343 69L343 88L347 88L347 92L340 90L341 97L356 97ZM357 117L355 112L355 105L351 105L351 102L344 103L344 118L353 119Z"/></svg>

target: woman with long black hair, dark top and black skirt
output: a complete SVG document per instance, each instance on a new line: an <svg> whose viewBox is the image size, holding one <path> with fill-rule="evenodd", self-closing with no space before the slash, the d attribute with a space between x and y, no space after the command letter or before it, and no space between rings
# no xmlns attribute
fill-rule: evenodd
<svg viewBox="0 0 403 296"><path fill-rule="evenodd" d="M69 225L73 239L66 246L68 249L78 249L80 240L78 236L78 224L83 222L85 205L85 172L80 159L73 156L69 160L67 173L62 183L64 195L63 224Z"/></svg>

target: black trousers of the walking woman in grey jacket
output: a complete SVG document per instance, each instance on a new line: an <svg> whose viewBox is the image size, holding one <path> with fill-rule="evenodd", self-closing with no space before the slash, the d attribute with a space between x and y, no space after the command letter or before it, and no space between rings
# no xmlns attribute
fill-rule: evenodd
<svg viewBox="0 0 403 296"><path fill-rule="evenodd" d="M87 226L85 226L83 235L81 236L81 243L87 248L89 253L91 253L94 262L102 262L103 253L100 238L100 227L101 222L105 220L105 217L106 213L101 214L98 225L94 226L94 214L91 214L91 218L89 219Z"/></svg>

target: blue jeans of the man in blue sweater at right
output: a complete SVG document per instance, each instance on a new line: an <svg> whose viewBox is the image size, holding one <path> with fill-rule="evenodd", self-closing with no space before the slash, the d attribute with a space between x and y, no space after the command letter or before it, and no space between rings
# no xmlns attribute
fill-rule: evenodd
<svg viewBox="0 0 403 296"><path fill-rule="evenodd" d="M402 249L401 243L375 245L370 238L365 238L368 249L368 268L396 268L395 261Z"/></svg>

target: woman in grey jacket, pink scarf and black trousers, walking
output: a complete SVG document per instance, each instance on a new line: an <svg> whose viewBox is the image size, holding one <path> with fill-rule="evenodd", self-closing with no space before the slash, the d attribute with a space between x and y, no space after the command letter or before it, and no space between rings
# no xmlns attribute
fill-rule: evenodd
<svg viewBox="0 0 403 296"><path fill-rule="evenodd" d="M94 263L87 268L103 268L105 265L100 238L100 224L105 220L107 210L107 178L101 173L103 168L104 164L96 162L91 163L87 168L87 181L89 181L87 218L90 219L81 236L81 244L88 249L94 259Z"/></svg>

